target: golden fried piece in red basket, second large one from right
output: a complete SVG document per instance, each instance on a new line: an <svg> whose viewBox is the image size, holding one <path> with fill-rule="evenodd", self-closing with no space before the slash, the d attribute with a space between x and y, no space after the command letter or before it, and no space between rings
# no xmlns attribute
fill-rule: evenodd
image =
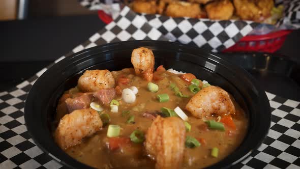
<svg viewBox="0 0 300 169"><path fill-rule="evenodd" d="M229 0L218 0L205 6L209 19L228 20L233 15L234 7Z"/></svg>

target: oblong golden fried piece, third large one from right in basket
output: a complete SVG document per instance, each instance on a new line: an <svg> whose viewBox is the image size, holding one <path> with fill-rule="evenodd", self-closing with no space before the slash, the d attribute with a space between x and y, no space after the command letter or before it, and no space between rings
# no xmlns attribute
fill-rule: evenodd
<svg viewBox="0 0 300 169"><path fill-rule="evenodd" d="M199 4L172 2L167 6L165 14L171 17L200 18L201 9Z"/></svg>

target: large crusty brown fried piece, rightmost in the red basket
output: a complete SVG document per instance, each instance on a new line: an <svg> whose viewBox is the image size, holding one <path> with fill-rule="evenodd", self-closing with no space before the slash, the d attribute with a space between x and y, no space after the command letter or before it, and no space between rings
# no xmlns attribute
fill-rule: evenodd
<svg viewBox="0 0 300 169"><path fill-rule="evenodd" d="M273 0L233 0L236 15L244 20L263 21L271 15Z"/></svg>

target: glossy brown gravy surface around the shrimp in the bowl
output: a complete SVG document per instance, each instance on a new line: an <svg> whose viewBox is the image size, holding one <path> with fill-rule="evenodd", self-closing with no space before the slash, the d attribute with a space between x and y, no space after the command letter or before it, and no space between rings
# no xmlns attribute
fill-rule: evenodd
<svg viewBox="0 0 300 169"><path fill-rule="evenodd" d="M157 93L151 93L147 89L147 81L136 76L133 69L124 69L122 71L112 72L115 80L120 76L129 78L127 85L121 86L122 89L135 86L138 88L136 101L132 104L125 103L121 95L117 95L114 99L118 100L118 112L110 112L109 105L103 105L104 110L101 114L110 116L109 124L121 126L120 137L129 138L130 134L139 129L146 133L151 126L153 119L144 117L144 113L156 114L161 107L174 109L179 106L185 111L189 117L189 124L192 126L191 131L187 132L187 136L192 136L198 140L205 140L200 147L185 148L184 164L182 168L202 168L213 163L216 163L229 155L235 148L241 144L248 126L248 120L245 117L244 111L234 102L236 114L232 117L236 130L231 130L225 125L225 131L208 130L207 124L202 119L193 117L185 106L194 95L188 89L189 84L179 75L170 72L156 72L153 81L159 86ZM182 98L175 96L174 92L169 89L170 83L175 83L179 90L190 97ZM77 93L76 88L66 91L66 93ZM169 95L168 102L159 102L158 94L166 93ZM234 100L232 100L234 101ZM129 110L130 114L123 116L122 112ZM60 111L60 110L59 110ZM64 112L57 111L58 116L62 116ZM130 116L134 116L134 124L126 123ZM207 120L217 120L217 117L207 117ZM107 138L108 125L91 137L84 138L82 143L66 150L73 158L97 168L154 168L155 161L146 156L143 144L130 142L127 146L123 146L117 150L109 150ZM219 155L217 158L211 156L211 149L217 147Z"/></svg>

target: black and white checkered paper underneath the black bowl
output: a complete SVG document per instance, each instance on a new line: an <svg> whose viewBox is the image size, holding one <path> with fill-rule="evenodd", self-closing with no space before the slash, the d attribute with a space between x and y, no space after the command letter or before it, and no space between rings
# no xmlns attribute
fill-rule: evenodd
<svg viewBox="0 0 300 169"><path fill-rule="evenodd" d="M129 8L66 56L109 42L167 40L143 16ZM64 59L59 58L55 63ZM53 63L53 64L55 64ZM34 82L50 66L16 87L0 92L0 168L64 168L36 146L24 124L24 104ZM266 93L272 107L272 127L263 144L233 168L300 168L300 102Z"/></svg>

